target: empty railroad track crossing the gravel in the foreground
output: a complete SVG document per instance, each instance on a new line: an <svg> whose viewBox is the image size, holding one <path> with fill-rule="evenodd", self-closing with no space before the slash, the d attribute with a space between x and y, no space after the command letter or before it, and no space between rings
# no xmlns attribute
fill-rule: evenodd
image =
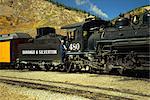
<svg viewBox="0 0 150 100"><path fill-rule="evenodd" d="M116 99L133 100L132 98L133 96L150 98L150 95L138 93L135 91L125 90L125 89L96 87L96 86L80 85L80 84L67 83L67 82L46 81L41 79L0 76L0 82L10 84L10 85L27 87L31 89L40 89L40 90L64 93L69 95L77 95L77 96L94 99L94 100L98 100L102 98L115 99L115 100ZM124 94L124 95L120 96L117 94Z"/></svg>

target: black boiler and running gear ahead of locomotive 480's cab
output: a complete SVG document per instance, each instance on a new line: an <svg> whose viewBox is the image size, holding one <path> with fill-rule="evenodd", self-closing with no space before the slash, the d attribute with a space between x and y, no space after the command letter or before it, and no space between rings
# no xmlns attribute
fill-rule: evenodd
<svg viewBox="0 0 150 100"><path fill-rule="evenodd" d="M118 19L114 27L106 28L97 53L103 55L108 71L116 69L146 71L150 67L150 13L135 15L131 19Z"/></svg>

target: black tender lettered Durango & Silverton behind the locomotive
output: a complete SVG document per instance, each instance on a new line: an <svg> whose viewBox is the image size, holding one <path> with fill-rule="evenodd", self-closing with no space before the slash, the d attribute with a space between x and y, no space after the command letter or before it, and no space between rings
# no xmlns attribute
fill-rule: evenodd
<svg viewBox="0 0 150 100"><path fill-rule="evenodd" d="M59 38L61 36L55 33L54 28L38 28L36 39L18 46L17 66L30 70L53 69L54 65L57 66L61 63Z"/></svg>

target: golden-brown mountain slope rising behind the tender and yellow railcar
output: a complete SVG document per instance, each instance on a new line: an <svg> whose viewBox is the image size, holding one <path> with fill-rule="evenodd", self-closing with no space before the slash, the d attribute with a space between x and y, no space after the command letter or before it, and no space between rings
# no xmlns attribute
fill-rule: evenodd
<svg viewBox="0 0 150 100"><path fill-rule="evenodd" d="M50 26L63 34L61 26L83 21L88 16L46 0L0 0L0 34L28 32L33 37L35 29Z"/></svg>

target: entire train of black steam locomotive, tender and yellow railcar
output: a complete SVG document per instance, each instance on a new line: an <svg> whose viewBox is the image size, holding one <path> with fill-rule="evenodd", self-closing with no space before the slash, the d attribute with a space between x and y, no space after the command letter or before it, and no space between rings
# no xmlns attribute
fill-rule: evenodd
<svg viewBox="0 0 150 100"><path fill-rule="evenodd" d="M150 13L146 12L118 19L114 25L102 19L87 19L63 26L66 37L57 35L51 27L38 28L35 39L25 33L0 35L0 65L67 72L149 72L149 22ZM62 38L67 47L64 63L60 53Z"/></svg>

